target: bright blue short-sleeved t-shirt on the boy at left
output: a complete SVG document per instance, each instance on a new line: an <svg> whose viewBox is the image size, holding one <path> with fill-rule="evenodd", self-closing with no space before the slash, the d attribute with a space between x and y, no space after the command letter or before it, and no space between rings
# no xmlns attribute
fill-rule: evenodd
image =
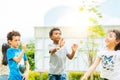
<svg viewBox="0 0 120 80"><path fill-rule="evenodd" d="M8 79L10 80L22 80L22 74L20 73L19 65L24 64L24 61L27 60L27 56L26 54L24 54L20 63L17 63L16 61L13 60L13 58L18 57L20 53L21 53L21 49L9 48L7 50L7 60L10 70Z"/></svg>

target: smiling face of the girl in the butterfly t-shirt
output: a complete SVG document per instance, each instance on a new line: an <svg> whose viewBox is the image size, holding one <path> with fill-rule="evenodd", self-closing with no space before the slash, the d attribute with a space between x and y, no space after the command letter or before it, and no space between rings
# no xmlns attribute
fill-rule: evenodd
<svg viewBox="0 0 120 80"><path fill-rule="evenodd" d="M116 45L116 34L114 32L109 32L105 38L106 46Z"/></svg>

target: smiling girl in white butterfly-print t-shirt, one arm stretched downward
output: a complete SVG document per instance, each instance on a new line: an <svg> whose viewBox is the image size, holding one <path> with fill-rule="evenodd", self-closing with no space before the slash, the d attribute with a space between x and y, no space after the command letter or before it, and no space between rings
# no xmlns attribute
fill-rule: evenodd
<svg viewBox="0 0 120 80"><path fill-rule="evenodd" d="M98 56L90 67L90 69L85 73L81 80L87 80L90 74L96 69L98 64L102 63L102 69L100 76L104 78L104 80L119 80L119 78L115 79L115 76L119 76L116 74L116 66L120 63L120 31L111 30L108 32L106 38L106 49L104 51L100 51ZM117 64L117 65L116 65Z"/></svg>

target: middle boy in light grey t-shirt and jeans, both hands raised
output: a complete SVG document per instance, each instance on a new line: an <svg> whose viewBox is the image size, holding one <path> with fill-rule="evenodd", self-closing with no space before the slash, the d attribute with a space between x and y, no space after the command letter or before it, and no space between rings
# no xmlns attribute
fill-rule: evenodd
<svg viewBox="0 0 120 80"><path fill-rule="evenodd" d="M53 41L53 43L49 45L49 80L66 80L66 57L72 59L78 46L76 44L73 44L72 53L68 54L67 49L64 46L65 42L64 39L61 37L61 31L59 28L51 29L49 32L49 36Z"/></svg>

